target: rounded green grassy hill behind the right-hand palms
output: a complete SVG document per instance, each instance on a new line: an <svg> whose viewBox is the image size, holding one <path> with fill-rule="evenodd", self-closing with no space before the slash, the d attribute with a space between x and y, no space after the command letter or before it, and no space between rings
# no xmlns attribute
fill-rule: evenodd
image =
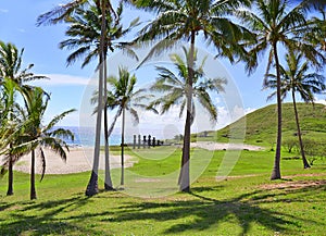
<svg viewBox="0 0 326 236"><path fill-rule="evenodd" d="M323 104L298 103L300 126L303 138L326 144L326 107ZM237 122L217 131L217 141L228 142L229 138L237 140L243 135L244 142L271 147L276 141L277 111L276 104L259 109ZM231 131L231 132L230 132ZM297 135L296 117L292 103L283 104L283 140L294 138ZM199 135L200 136L200 135ZM212 140L215 132L209 132L208 137L198 140ZM216 139L216 138L214 138Z"/></svg>

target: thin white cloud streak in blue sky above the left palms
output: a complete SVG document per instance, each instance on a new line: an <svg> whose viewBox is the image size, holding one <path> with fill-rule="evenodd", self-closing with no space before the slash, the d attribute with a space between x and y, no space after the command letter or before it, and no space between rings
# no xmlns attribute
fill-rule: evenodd
<svg viewBox="0 0 326 236"><path fill-rule="evenodd" d="M64 74L45 74L50 79L40 79L33 82L37 86L68 86L68 85L88 85L89 78Z"/></svg>

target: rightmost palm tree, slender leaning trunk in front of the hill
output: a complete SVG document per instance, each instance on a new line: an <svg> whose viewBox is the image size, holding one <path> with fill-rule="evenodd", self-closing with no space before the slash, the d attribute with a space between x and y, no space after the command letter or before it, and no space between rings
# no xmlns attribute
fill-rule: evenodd
<svg viewBox="0 0 326 236"><path fill-rule="evenodd" d="M303 167L310 167L303 149L299 115L297 111L297 101L296 94L298 92L303 101L305 102L314 102L314 94L322 92L326 89L325 86L325 77L317 73L309 73L309 62L305 61L302 63L303 55L298 52L289 51L286 55L287 69L284 69L280 65L280 74L281 74L281 87L280 94L281 99L284 100L288 92L291 92L296 122L297 122L297 131L298 138L300 144L300 151L303 161ZM268 80L265 83L266 88L276 88L276 76L274 74L268 74ZM273 92L268 98L275 96Z"/></svg>

